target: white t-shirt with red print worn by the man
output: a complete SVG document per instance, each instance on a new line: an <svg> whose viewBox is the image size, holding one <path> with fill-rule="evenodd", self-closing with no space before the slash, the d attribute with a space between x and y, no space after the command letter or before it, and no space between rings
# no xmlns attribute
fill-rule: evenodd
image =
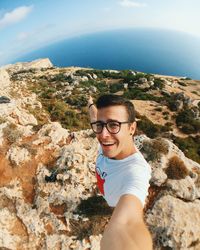
<svg viewBox="0 0 200 250"><path fill-rule="evenodd" d="M96 177L98 188L109 206L115 207L124 194L135 195L144 206L151 167L139 151L122 160L113 160L105 157L100 148Z"/></svg>

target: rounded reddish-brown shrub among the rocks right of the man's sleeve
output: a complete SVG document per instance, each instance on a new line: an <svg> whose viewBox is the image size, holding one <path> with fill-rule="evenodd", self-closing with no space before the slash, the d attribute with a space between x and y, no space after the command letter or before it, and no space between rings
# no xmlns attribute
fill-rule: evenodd
<svg viewBox="0 0 200 250"><path fill-rule="evenodd" d="M165 172L168 178L173 180L181 180L189 175L189 170L186 168L184 162L177 156L169 159Z"/></svg>

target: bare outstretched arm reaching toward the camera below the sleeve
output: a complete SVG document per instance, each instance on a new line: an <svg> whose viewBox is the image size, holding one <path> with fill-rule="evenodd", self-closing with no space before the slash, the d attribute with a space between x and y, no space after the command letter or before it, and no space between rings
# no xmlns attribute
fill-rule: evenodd
<svg viewBox="0 0 200 250"><path fill-rule="evenodd" d="M101 250L152 250L143 208L134 195L122 195L101 240Z"/></svg>

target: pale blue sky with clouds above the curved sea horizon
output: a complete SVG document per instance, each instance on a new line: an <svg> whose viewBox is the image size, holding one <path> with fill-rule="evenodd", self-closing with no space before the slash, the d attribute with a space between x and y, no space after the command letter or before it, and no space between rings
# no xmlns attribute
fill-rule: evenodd
<svg viewBox="0 0 200 250"><path fill-rule="evenodd" d="M0 65L58 40L150 27L200 37L199 0L0 0Z"/></svg>

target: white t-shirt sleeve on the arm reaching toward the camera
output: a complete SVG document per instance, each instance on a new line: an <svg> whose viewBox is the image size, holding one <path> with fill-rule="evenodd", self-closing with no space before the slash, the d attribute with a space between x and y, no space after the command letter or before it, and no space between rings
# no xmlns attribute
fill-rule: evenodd
<svg viewBox="0 0 200 250"><path fill-rule="evenodd" d="M145 166L134 166L134 168L128 170L123 176L120 197L124 194L135 195L144 206L145 199L148 195L148 188L150 186L150 178L151 167L148 164Z"/></svg>

